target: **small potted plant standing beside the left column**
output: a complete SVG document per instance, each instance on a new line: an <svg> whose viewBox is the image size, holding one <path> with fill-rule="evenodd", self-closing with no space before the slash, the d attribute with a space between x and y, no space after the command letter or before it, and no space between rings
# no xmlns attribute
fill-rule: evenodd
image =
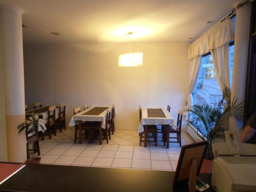
<svg viewBox="0 0 256 192"><path fill-rule="evenodd" d="M41 123L40 123L41 122ZM18 126L18 133L22 132L23 130L26 130L26 138L27 141L29 139L38 139L38 127L41 127L42 130L46 130L45 126L42 126L44 122L42 119L38 119L38 115L34 115L32 112L32 115L26 119L26 121ZM32 143L33 146L33 153L32 157L30 157L26 162L27 163L40 163L40 157L34 157L35 152L35 144Z"/></svg>

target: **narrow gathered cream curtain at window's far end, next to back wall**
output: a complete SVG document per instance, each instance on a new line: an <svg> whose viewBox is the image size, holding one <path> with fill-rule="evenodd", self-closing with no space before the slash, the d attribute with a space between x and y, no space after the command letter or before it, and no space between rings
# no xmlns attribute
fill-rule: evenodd
<svg viewBox="0 0 256 192"><path fill-rule="evenodd" d="M201 69L201 56L197 56L189 60L190 68L190 84L189 84L189 94L187 98L187 109L191 109L193 106L193 92L197 85L198 75ZM189 113L186 114L186 119L189 119Z"/></svg>

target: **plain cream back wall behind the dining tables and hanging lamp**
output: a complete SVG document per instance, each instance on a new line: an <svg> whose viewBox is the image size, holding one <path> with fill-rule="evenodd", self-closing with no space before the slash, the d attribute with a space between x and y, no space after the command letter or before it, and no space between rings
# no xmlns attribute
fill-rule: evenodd
<svg viewBox="0 0 256 192"><path fill-rule="evenodd" d="M143 52L143 66L118 67L118 55L128 44L25 45L26 103L66 102L67 120L73 108L116 106L117 129L136 130L139 104L172 107L177 118L189 90L188 44L134 44Z"/></svg>

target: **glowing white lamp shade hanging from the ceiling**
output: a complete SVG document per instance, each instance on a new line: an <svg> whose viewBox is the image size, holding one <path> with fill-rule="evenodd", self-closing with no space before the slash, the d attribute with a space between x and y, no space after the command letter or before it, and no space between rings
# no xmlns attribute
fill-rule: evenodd
<svg viewBox="0 0 256 192"><path fill-rule="evenodd" d="M126 53L119 55L119 67L142 66L143 53Z"/></svg>

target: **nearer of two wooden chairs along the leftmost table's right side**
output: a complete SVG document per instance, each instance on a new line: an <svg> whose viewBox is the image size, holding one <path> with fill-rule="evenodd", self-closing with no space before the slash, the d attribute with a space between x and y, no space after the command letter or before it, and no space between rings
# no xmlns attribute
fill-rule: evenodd
<svg viewBox="0 0 256 192"><path fill-rule="evenodd" d="M53 131L53 134L56 136L56 129L55 129L55 113L56 113L56 106L49 106L48 109L48 116L47 116L47 123L46 128L47 131L42 133L42 137L44 140L44 135L48 133L49 139L52 138L51 131Z"/></svg>

